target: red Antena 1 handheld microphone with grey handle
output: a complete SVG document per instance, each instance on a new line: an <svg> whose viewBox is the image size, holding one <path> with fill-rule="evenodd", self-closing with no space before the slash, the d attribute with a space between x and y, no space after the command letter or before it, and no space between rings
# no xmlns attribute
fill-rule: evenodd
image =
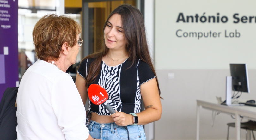
<svg viewBox="0 0 256 140"><path fill-rule="evenodd" d="M107 91L100 85L91 84L88 88L88 97L95 105L103 104L103 106L109 111L109 113L116 113L113 107L108 103Z"/></svg>

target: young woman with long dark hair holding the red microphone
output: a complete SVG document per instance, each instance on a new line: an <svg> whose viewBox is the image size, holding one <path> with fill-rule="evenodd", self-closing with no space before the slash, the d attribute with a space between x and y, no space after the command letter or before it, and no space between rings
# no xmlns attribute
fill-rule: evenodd
<svg viewBox="0 0 256 140"><path fill-rule="evenodd" d="M85 57L76 75L76 87L85 104L88 87L101 85L117 112L110 114L103 105L89 101L92 112L88 126L92 137L107 139L143 139L143 125L161 118L160 90L149 55L144 20L131 5L121 5L107 18L101 52ZM140 100L145 110L140 112Z"/></svg>

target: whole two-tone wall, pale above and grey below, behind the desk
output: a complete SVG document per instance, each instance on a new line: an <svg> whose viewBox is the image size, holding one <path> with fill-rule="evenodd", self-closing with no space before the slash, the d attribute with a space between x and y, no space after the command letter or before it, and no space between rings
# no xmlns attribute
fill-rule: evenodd
<svg viewBox="0 0 256 140"><path fill-rule="evenodd" d="M240 100L256 99L256 1L247 0L155 0L155 66L161 89L162 118L155 122L156 140L195 139L196 100L225 100L225 77L230 75L229 63L247 63L251 93ZM179 13L228 17L226 23L177 23ZM252 23L233 23L233 14L241 18L254 16ZM199 19L198 18L198 19ZM207 18L208 20L208 18ZM247 20L248 21L248 20ZM220 37L177 37L176 31L221 32ZM239 38L226 38L237 30ZM168 74L171 75L168 78ZM256 108L255 108L256 109ZM202 109L200 139L226 139L227 123L235 120L221 113L212 127L212 112ZM243 119L246 121L246 119ZM230 129L230 139L235 129ZM245 139L245 131L241 131Z"/></svg>

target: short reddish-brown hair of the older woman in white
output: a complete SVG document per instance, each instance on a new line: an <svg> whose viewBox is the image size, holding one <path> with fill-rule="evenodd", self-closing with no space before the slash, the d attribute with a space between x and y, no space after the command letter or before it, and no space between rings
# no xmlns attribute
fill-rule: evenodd
<svg viewBox="0 0 256 140"><path fill-rule="evenodd" d="M33 29L35 52L39 59L58 60L61 46L67 42L70 47L77 43L76 35L81 33L81 27L73 19L66 16L50 14L43 16Z"/></svg>

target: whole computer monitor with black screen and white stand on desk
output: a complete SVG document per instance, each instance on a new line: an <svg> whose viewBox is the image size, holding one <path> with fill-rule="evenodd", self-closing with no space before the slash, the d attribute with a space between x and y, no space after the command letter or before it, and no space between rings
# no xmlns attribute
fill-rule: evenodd
<svg viewBox="0 0 256 140"><path fill-rule="evenodd" d="M226 103L227 106L244 106L240 103L232 103L232 99L237 99L242 92L250 92L247 64L229 64L230 75L226 77ZM234 94L232 95L232 90ZM235 91L237 93L235 94ZM241 92L240 95L239 92ZM237 96L238 95L238 96Z"/></svg>

